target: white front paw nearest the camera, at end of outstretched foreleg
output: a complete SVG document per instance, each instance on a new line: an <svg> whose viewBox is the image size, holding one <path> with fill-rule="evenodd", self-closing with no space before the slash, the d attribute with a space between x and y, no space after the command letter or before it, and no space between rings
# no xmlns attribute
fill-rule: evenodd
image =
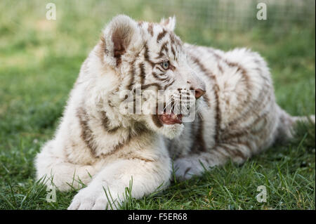
<svg viewBox="0 0 316 224"><path fill-rule="evenodd" d="M111 196L103 187L85 187L84 189L79 190L78 194L72 199L72 203L68 207L68 210L105 210L105 209L117 209L117 204L109 203L107 200L114 199L114 195L111 192Z"/></svg>

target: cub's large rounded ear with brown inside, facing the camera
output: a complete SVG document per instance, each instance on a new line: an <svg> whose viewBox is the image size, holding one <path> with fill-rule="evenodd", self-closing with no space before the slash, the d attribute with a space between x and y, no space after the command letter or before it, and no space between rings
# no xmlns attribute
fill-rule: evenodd
<svg viewBox="0 0 316 224"><path fill-rule="evenodd" d="M136 21L127 15L114 17L105 27L102 35L105 60L112 67L119 66L121 56L140 39Z"/></svg>

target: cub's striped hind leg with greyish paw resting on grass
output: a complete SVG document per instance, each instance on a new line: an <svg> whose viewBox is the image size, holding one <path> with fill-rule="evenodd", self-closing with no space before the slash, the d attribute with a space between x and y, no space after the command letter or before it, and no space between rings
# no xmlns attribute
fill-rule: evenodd
<svg viewBox="0 0 316 224"><path fill-rule="evenodd" d="M251 150L248 145L220 144L207 152L180 157L173 162L173 167L178 180L187 180L195 175L200 176L207 169L223 165L229 160L242 164L249 157L251 157Z"/></svg>

